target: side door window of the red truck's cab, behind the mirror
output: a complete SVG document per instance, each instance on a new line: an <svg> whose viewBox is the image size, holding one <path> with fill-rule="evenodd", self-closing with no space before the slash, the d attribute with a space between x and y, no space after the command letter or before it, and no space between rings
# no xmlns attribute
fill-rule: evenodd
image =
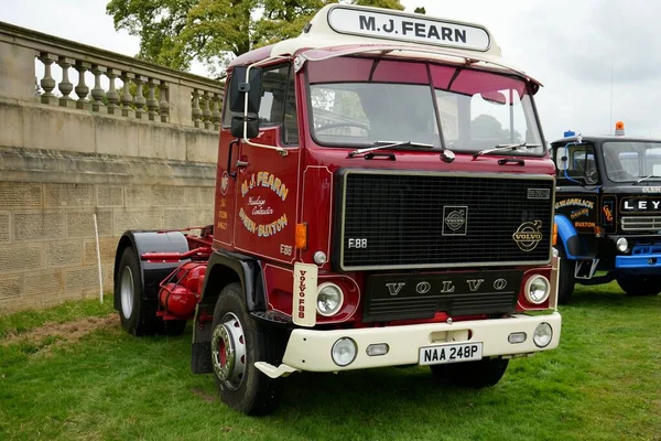
<svg viewBox="0 0 661 441"><path fill-rule="evenodd" d="M291 65L264 68L259 123L260 127L282 126L284 143L295 144L299 142L296 97Z"/></svg>

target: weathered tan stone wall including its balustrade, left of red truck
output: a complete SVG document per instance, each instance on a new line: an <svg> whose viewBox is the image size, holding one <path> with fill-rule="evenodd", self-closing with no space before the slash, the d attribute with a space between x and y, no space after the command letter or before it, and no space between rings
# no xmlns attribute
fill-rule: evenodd
<svg viewBox="0 0 661 441"><path fill-rule="evenodd" d="M144 77L159 107L140 115L140 97L120 107L111 90L107 109L30 94L51 58ZM106 292L124 230L213 222L220 85L131 60L0 22L0 314L98 297L95 214Z"/></svg>

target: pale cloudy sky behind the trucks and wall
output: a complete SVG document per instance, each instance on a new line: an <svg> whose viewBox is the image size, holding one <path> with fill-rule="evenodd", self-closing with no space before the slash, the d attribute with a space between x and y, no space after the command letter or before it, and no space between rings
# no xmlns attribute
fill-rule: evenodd
<svg viewBox="0 0 661 441"><path fill-rule="evenodd" d="M138 37L116 31L108 0L0 0L0 21L136 55ZM565 130L661 138L661 2L643 0L401 0L407 11L476 22L505 60L540 80L546 141ZM193 72L205 75L201 64Z"/></svg>

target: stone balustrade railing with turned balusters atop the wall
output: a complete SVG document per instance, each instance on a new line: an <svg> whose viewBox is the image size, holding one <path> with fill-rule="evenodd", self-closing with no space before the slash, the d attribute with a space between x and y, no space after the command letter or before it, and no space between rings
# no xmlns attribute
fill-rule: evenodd
<svg viewBox="0 0 661 441"><path fill-rule="evenodd" d="M217 131L221 92L210 78L0 22L0 98Z"/></svg>

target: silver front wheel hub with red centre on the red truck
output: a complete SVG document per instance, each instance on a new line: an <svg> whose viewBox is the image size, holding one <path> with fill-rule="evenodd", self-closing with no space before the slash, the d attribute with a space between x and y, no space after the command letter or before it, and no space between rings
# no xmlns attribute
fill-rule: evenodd
<svg viewBox="0 0 661 441"><path fill-rule="evenodd" d="M236 390L246 375L246 337L241 322L227 313L212 334L212 363L216 376Z"/></svg>

